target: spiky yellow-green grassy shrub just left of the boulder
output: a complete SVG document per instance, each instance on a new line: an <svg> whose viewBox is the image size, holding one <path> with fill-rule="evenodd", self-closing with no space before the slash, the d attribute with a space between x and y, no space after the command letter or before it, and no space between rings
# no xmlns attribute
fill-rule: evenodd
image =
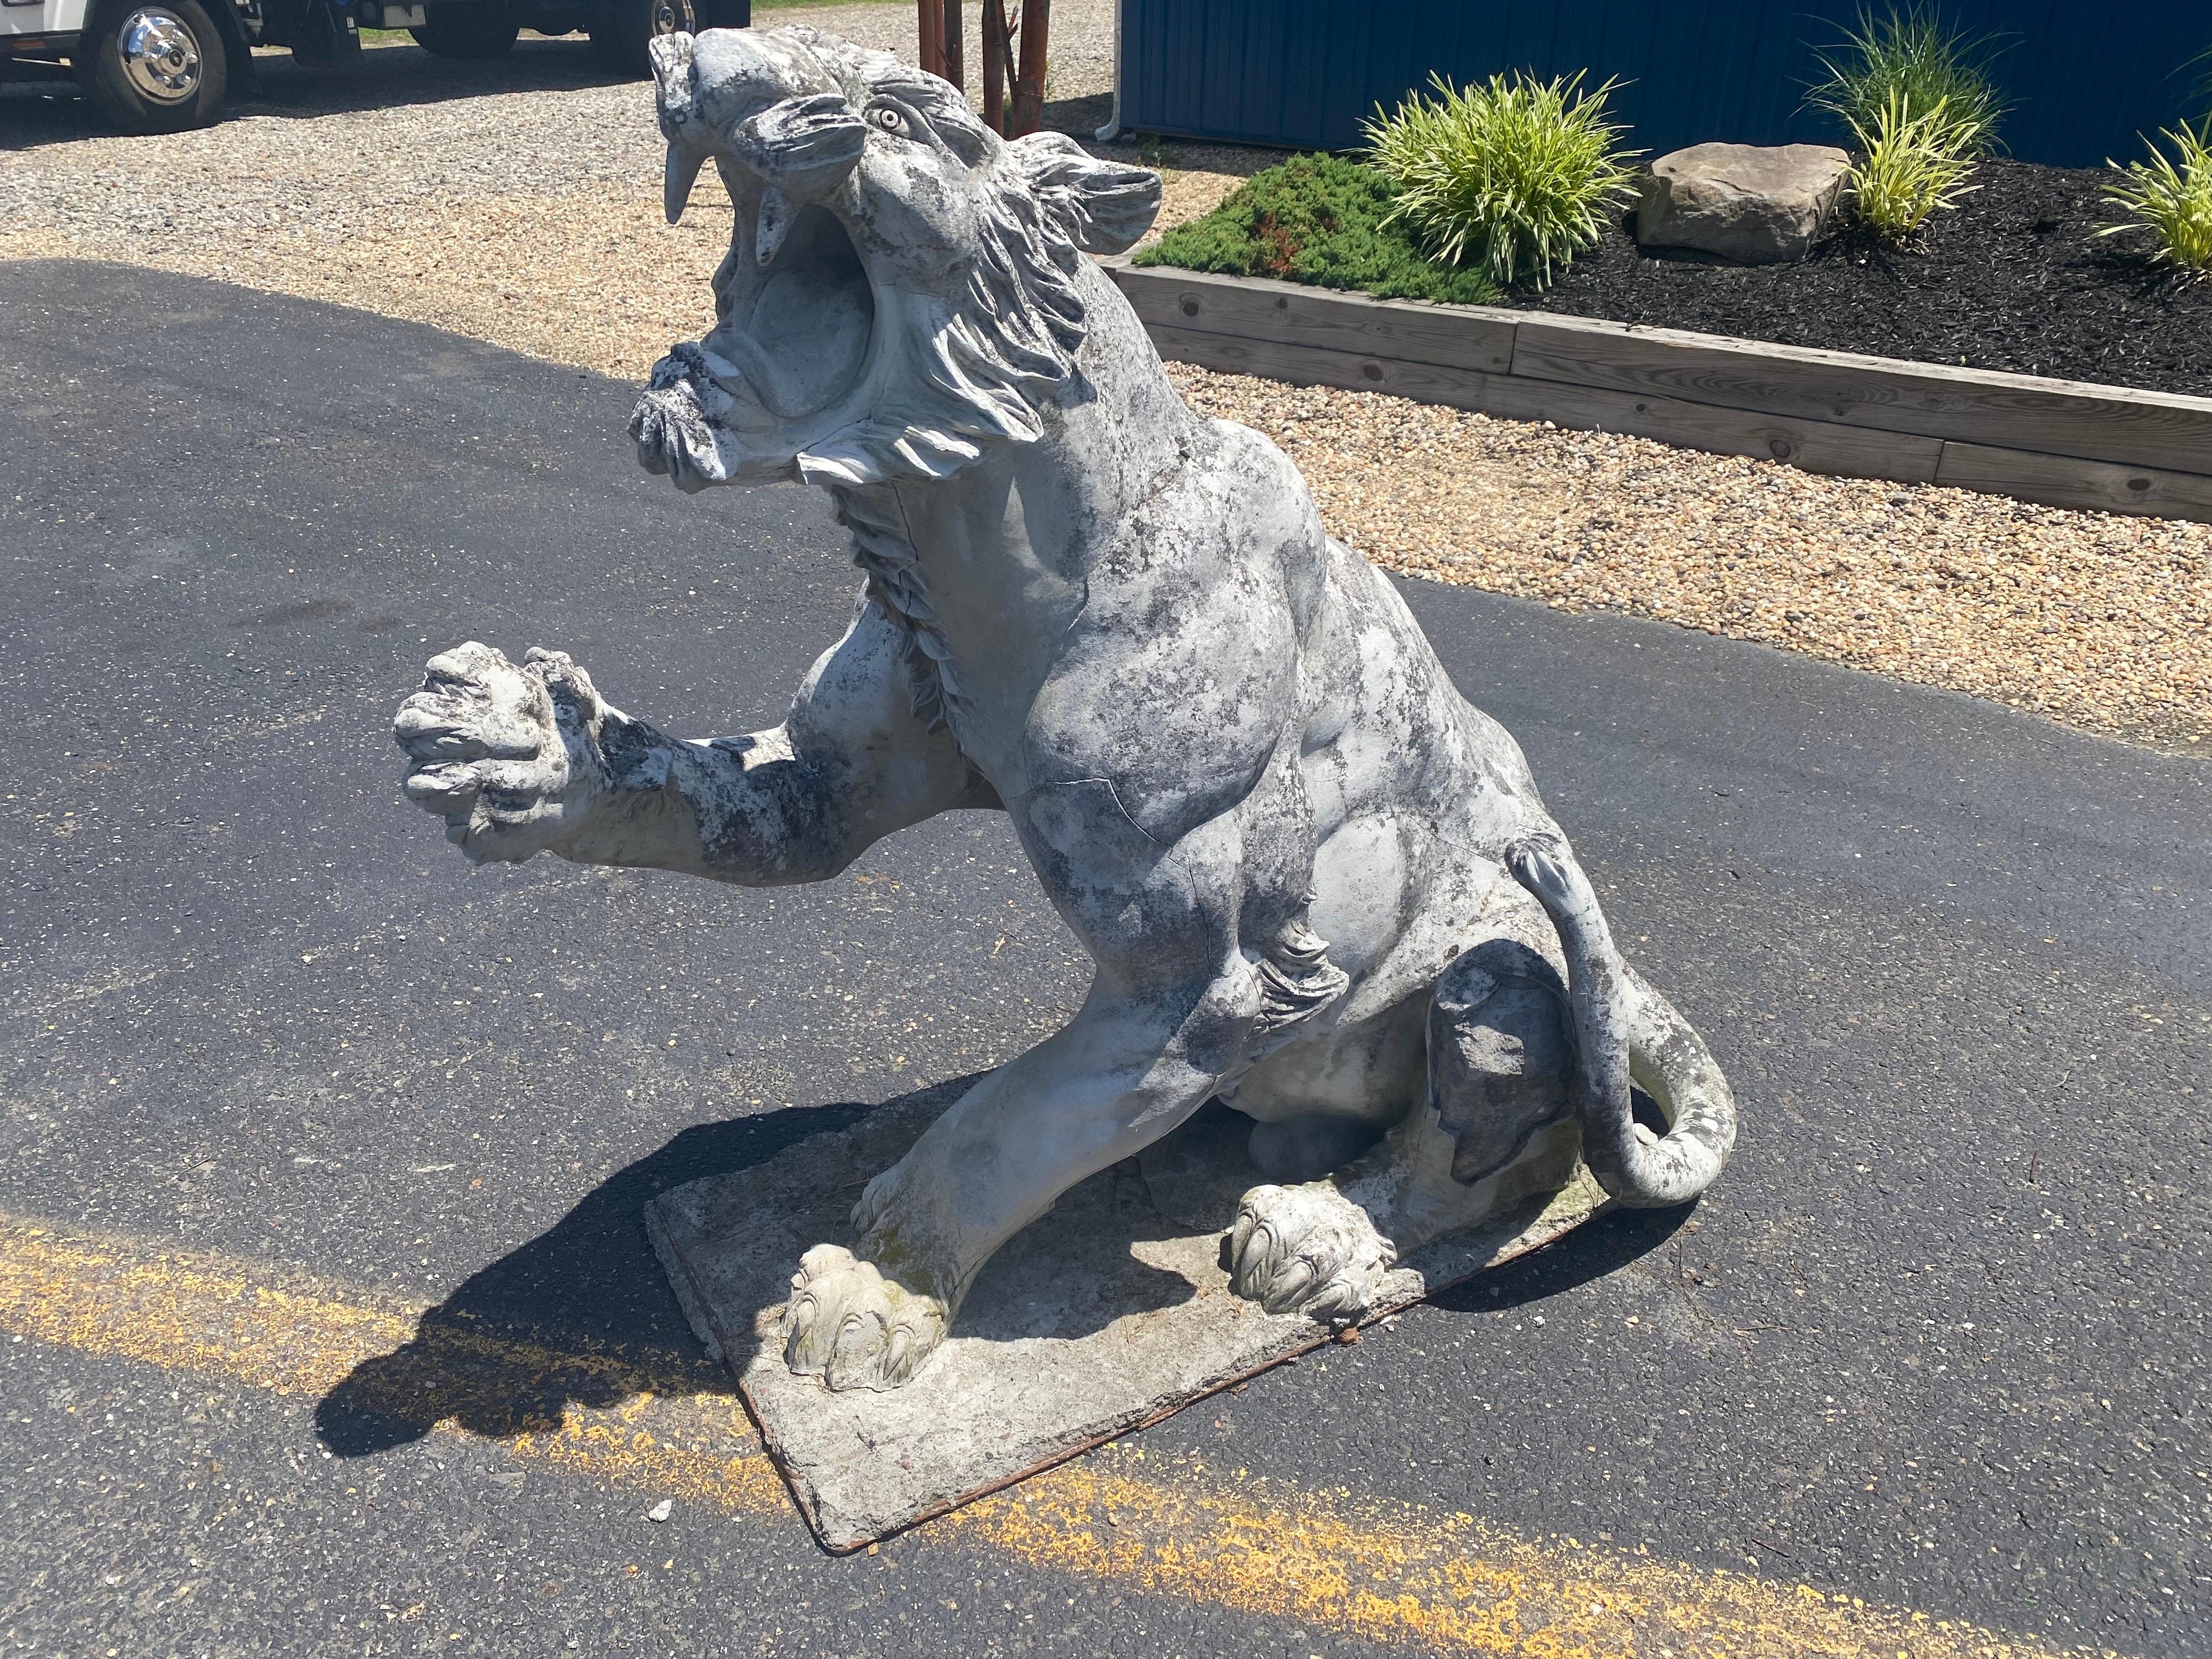
<svg viewBox="0 0 2212 1659"><path fill-rule="evenodd" d="M1621 128L1606 119L1610 80L1593 93L1579 73L1431 82L1436 97L1409 93L1396 115L1378 104L1365 137L1398 188L1391 221L1413 226L1440 261L1500 283L1533 274L1542 288L1635 197L1637 150L1619 148Z"/></svg>

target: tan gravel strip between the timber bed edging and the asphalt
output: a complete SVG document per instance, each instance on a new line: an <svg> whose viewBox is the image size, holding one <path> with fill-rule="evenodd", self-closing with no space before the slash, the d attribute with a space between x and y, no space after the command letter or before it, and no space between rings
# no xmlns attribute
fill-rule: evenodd
<svg viewBox="0 0 2212 1659"><path fill-rule="evenodd" d="M1701 456L1170 365L1385 568L1761 639L2073 726L2212 745L2212 526Z"/></svg>

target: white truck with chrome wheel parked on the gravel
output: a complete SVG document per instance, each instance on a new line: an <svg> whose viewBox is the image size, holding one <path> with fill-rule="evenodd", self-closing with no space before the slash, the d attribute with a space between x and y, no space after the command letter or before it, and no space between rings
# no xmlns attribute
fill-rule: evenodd
<svg viewBox="0 0 2212 1659"><path fill-rule="evenodd" d="M405 29L440 58L498 58L515 35L591 35L613 71L644 75L646 42L741 29L752 0L0 0L0 80L75 75L126 133L217 119L254 80L254 46L345 69L361 29Z"/></svg>

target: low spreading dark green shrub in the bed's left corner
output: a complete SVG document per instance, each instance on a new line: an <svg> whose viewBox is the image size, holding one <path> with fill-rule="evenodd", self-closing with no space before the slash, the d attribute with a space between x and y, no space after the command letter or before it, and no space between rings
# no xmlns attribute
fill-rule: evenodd
<svg viewBox="0 0 2212 1659"><path fill-rule="evenodd" d="M1385 299L1460 305L1498 299L1480 270L1425 259L1402 226L1385 223L1389 210L1389 179L1374 168L1336 155L1298 155L1248 179L1203 219L1168 230L1137 263L1283 276Z"/></svg>

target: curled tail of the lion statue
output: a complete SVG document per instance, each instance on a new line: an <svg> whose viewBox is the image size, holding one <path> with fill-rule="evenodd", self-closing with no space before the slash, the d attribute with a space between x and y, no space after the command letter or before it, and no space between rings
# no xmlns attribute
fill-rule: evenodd
<svg viewBox="0 0 2212 1659"><path fill-rule="evenodd" d="M1736 1144L1736 1099L1703 1037L1628 967L1590 878L1557 830L1515 841L1506 867L1551 916L1566 951L1575 1022L1582 1157L1615 1199L1639 1210L1688 1203ZM1668 1119L1635 1121L1630 1084Z"/></svg>

